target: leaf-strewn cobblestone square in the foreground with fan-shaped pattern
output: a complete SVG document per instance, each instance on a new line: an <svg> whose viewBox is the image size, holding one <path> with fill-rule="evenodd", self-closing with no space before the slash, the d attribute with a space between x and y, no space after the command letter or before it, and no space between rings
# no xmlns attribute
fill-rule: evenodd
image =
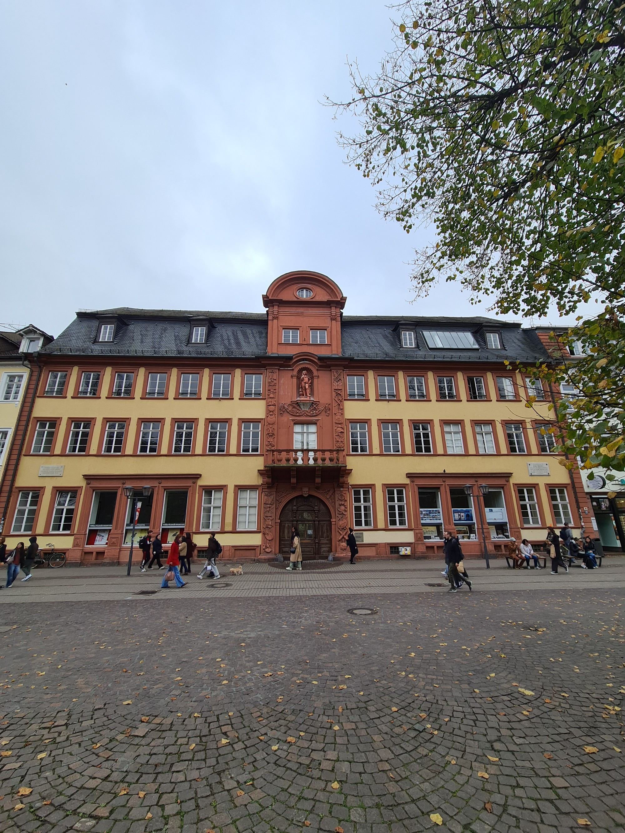
<svg viewBox="0 0 625 833"><path fill-rule="evenodd" d="M181 597L3 607L0 830L622 830L618 588Z"/></svg>

